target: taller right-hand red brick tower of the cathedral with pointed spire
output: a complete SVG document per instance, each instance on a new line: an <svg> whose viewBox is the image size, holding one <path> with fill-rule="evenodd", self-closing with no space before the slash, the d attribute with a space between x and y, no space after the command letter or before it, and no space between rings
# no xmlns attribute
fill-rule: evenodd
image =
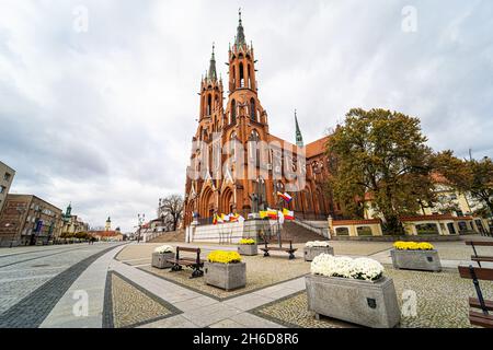
<svg viewBox="0 0 493 350"><path fill-rule="evenodd" d="M259 141L270 142L267 113L259 100L259 83L256 81L255 52L253 44L246 43L241 10L237 35L233 45L228 50L229 92L226 105L227 129L225 141L236 139L248 152L248 162L242 168L243 174L233 174L231 198L222 196L219 209L233 208L249 212L256 206L252 194L261 199L256 202L272 201L272 184L266 182L268 172L267 150L260 150ZM237 167L233 164L232 170ZM251 176L254 174L254 176ZM264 176L262 176L264 174ZM254 178L252 178L254 177ZM232 203L230 203L232 201Z"/></svg>

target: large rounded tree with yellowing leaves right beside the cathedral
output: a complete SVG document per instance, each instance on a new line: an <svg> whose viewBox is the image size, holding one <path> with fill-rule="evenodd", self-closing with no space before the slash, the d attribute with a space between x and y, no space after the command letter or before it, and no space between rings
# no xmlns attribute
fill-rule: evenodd
<svg viewBox="0 0 493 350"><path fill-rule="evenodd" d="M386 232L401 234L400 215L433 202L432 150L420 119L385 109L351 109L328 143L330 190L346 214L370 201Z"/></svg>

